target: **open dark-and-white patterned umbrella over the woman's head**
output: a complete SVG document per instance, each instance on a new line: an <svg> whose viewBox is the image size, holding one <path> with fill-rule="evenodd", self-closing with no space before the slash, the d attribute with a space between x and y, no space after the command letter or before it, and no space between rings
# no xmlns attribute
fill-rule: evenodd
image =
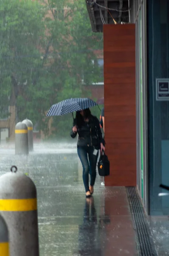
<svg viewBox="0 0 169 256"><path fill-rule="evenodd" d="M65 99L51 106L46 116L62 116L74 111L81 111L96 106L97 103L89 98Z"/></svg>

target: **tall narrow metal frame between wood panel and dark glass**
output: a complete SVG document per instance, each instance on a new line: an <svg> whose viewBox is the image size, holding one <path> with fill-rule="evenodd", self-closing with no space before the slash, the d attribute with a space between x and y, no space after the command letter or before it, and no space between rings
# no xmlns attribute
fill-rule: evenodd
<svg viewBox="0 0 169 256"><path fill-rule="evenodd" d="M132 1L132 22L135 22L136 39L136 127L137 127L137 184L142 194L141 186L141 84L143 84L143 167L144 167L144 196L142 198L146 212L149 213L149 167L148 167L148 125L147 125L147 32L146 32L146 0ZM140 15L141 24L140 24ZM140 31L140 25L142 31ZM140 32L142 34L142 46L140 45ZM140 47L142 47L142 56L140 56ZM140 58L142 58L142 74L140 73Z"/></svg>

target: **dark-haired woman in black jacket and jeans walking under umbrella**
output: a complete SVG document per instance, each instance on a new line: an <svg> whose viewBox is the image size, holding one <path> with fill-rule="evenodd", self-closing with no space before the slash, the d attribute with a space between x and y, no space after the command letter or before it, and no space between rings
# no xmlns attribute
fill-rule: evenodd
<svg viewBox="0 0 169 256"><path fill-rule="evenodd" d="M77 142L77 153L83 167L83 183L86 197L93 194L93 186L96 180L96 164L99 149L104 149L104 140L101 134L100 123L96 116L93 116L90 109L76 112L76 119L73 121L71 137L79 135ZM90 174L90 186L89 186Z"/></svg>

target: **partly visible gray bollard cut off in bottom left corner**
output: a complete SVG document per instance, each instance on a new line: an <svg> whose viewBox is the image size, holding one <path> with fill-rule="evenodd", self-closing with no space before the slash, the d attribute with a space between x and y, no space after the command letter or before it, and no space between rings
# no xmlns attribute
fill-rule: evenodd
<svg viewBox="0 0 169 256"><path fill-rule="evenodd" d="M9 256L8 228L0 215L0 256Z"/></svg>

